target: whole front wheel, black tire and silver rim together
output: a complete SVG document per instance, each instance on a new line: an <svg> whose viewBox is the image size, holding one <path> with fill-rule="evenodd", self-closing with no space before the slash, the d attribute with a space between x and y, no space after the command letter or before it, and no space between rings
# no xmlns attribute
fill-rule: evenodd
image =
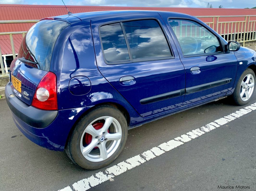
<svg viewBox="0 0 256 191"><path fill-rule="evenodd" d="M255 91L255 74L252 69L247 68L241 75L237 86L232 94L234 103L237 105L247 104Z"/></svg>

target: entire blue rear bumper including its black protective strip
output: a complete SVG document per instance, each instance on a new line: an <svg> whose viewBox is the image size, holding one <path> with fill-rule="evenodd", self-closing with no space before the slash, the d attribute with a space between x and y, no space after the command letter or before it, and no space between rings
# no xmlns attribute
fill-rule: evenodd
<svg viewBox="0 0 256 191"><path fill-rule="evenodd" d="M84 111L89 109L89 107L83 107L44 111L26 105L16 96L10 97L10 94L12 94L12 89L8 83L5 88L6 102L18 129L32 142L55 151L64 150L74 123ZM47 120L47 122L43 120ZM43 127L47 124L48 126Z"/></svg>

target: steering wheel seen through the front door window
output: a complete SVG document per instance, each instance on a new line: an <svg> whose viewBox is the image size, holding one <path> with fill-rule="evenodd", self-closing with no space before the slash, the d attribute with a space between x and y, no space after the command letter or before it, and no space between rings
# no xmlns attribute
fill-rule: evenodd
<svg viewBox="0 0 256 191"><path fill-rule="evenodd" d="M198 47L197 40L190 36L182 38L179 43L184 54L194 53Z"/></svg>

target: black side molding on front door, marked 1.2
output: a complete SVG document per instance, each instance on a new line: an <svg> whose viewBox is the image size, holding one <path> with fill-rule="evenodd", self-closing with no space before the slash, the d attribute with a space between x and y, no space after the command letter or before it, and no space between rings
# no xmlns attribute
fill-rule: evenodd
<svg viewBox="0 0 256 191"><path fill-rule="evenodd" d="M186 94L195 93L195 92L198 92L198 91L207 90L207 89L210 89L210 88L214 88L214 87L217 87L217 86L228 84L231 81L232 81L232 78L228 78L228 79L218 80L218 81L210 82L210 83L207 83L207 84L201 84L201 85L198 85L198 86L193 86L193 87L190 87L190 88L186 88Z"/></svg>

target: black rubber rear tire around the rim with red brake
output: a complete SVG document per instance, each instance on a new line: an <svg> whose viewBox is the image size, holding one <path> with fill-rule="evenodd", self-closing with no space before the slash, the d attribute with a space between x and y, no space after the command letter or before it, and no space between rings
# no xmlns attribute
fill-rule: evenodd
<svg viewBox="0 0 256 191"><path fill-rule="evenodd" d="M86 127L95 119L102 117L102 116L110 116L114 117L121 125L122 129L122 137L121 142L116 149L116 151L107 159L100 161L100 162L92 162L87 160L81 152L80 149L80 140L82 133L86 129ZM118 110L117 108L110 106L110 105L102 105L95 107L92 111L88 114L83 116L81 120L78 122L76 127L74 128L71 136L68 139L65 151L68 157L74 162L76 165L84 168L84 169L99 169L108 164L110 164L113 160L115 160L118 155L121 153L127 138L127 121L124 117L123 113Z"/></svg>

